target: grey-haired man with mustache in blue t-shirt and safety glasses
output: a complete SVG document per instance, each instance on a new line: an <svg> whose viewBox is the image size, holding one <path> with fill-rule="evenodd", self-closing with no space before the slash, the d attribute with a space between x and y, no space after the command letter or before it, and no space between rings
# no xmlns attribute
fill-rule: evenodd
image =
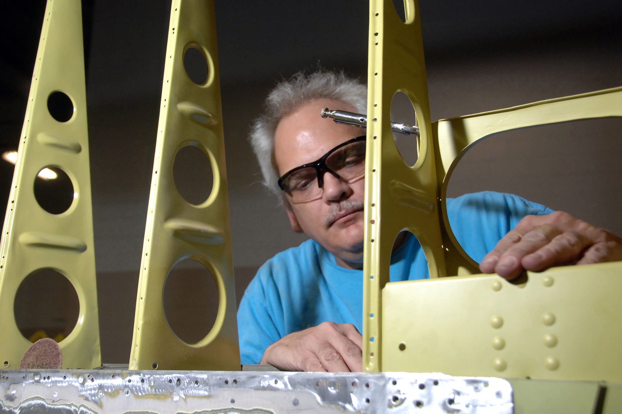
<svg viewBox="0 0 622 414"><path fill-rule="evenodd" d="M251 142L264 183L309 241L268 260L238 311L243 364L360 371L364 130L320 117L366 112L366 88L343 74L299 73L269 94ZM485 273L622 260L622 240L570 214L484 192L447 200L452 230ZM429 277L417 239L396 238L392 282ZM358 328L357 328L358 327Z"/></svg>

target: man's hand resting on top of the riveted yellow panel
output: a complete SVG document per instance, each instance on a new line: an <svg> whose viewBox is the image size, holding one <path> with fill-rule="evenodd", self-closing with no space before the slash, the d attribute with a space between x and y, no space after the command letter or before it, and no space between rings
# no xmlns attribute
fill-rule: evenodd
<svg viewBox="0 0 622 414"><path fill-rule="evenodd" d="M511 280L523 270L622 260L622 239L563 211L526 216L481 261L480 270Z"/></svg>

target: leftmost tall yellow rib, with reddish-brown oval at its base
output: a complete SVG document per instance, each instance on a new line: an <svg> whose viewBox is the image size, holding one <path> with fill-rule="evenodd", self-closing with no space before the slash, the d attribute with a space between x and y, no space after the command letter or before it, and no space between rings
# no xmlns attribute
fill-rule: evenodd
<svg viewBox="0 0 622 414"><path fill-rule="evenodd" d="M73 101L67 122L47 109L54 91ZM78 322L59 343L62 367L101 366L80 0L47 2L20 138L0 245L0 362L19 368L32 345L13 315L19 284L36 270L53 269L67 277L80 300ZM62 214L47 213L35 200L35 177L49 166L61 168L73 183L73 204Z"/></svg>

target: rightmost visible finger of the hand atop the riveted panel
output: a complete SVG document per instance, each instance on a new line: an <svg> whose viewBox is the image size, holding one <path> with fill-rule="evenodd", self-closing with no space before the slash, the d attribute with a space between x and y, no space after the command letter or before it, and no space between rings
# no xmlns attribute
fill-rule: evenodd
<svg viewBox="0 0 622 414"><path fill-rule="evenodd" d="M526 270L541 272L552 266L571 264L577 261L583 249L590 245L590 239L574 231L555 236L549 244L536 252L527 254L521 260ZM595 263L595 262L594 262Z"/></svg>

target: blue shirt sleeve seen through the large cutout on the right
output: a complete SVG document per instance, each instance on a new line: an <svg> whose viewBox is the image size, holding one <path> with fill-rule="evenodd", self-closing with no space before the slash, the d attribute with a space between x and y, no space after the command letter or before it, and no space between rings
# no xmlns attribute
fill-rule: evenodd
<svg viewBox="0 0 622 414"><path fill-rule="evenodd" d="M453 234L478 263L524 216L550 213L553 210L543 205L494 191L447 199L447 216Z"/></svg>

